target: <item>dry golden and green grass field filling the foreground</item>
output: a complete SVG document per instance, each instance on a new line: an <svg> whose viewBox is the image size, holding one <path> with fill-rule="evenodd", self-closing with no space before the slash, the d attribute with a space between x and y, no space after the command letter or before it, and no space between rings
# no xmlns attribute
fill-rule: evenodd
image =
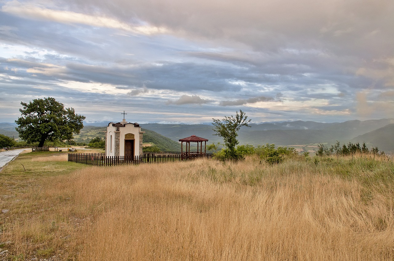
<svg viewBox="0 0 394 261"><path fill-rule="evenodd" d="M392 159L88 167L27 153L0 178L8 260L394 260Z"/></svg>

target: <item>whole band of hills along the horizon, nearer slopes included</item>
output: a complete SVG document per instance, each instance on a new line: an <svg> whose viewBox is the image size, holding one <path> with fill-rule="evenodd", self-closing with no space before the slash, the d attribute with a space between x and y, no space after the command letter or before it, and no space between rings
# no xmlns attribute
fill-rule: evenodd
<svg viewBox="0 0 394 261"><path fill-rule="evenodd" d="M104 125L104 124L103 124ZM219 136L214 136L213 125L207 124L159 124L147 123L140 124L146 131L144 142L155 140L151 143L156 144L158 140L167 137L175 142L181 138L196 135L209 140L209 143L223 142ZM252 123L249 127L242 127L239 131L238 140L240 144L266 144L275 143L278 146L299 146L307 147L318 143L328 146L339 141L341 144L348 142L365 142L367 147L378 147L386 153L394 152L394 119L373 119L366 121L352 120L342 123L320 123L315 121L285 121L274 123ZM0 123L0 134L14 136L18 138L15 131L15 123ZM104 126L103 126L104 127ZM103 127L93 127L86 125L84 133L86 137L103 137ZM156 132L157 134L154 134ZM160 135L159 135L160 134ZM154 138L148 138L148 137ZM164 137L161 137L164 136ZM74 136L75 140L80 137ZM169 145L171 142L167 140ZM172 143L175 146L175 143ZM172 146L171 145L171 146ZM304 151L307 149L303 149Z"/></svg>

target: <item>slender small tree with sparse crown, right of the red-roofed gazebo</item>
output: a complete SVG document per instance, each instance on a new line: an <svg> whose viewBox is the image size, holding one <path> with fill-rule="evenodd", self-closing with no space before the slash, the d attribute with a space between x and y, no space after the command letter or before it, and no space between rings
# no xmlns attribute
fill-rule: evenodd
<svg viewBox="0 0 394 261"><path fill-rule="evenodd" d="M247 121L245 112L240 110L240 113L238 113L238 111L236 112L235 118L233 116L226 116L224 119L213 119L213 121L212 125L214 125L215 128L212 130L216 132L214 135L222 137L224 145L226 146L225 158L227 160L239 160L243 158L235 149L235 146L239 143L237 140L238 130L240 130L242 126L251 127L248 125L251 119Z"/></svg>

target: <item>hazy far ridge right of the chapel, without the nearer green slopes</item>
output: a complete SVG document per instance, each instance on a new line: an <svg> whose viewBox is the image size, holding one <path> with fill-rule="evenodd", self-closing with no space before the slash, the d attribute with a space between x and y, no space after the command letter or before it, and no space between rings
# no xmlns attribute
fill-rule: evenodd
<svg viewBox="0 0 394 261"><path fill-rule="evenodd" d="M354 137L379 129L390 123L394 123L394 119L354 120L343 123L318 123L314 121L253 123L251 128L241 128L238 138L240 144L249 143L252 145L263 145L266 143L275 143L275 145L281 146L316 143L334 144L337 140L347 143ZM220 137L213 135L215 132L212 130L212 125L148 123L141 126L174 141L190 135L206 138L209 140L209 143L223 141Z"/></svg>

